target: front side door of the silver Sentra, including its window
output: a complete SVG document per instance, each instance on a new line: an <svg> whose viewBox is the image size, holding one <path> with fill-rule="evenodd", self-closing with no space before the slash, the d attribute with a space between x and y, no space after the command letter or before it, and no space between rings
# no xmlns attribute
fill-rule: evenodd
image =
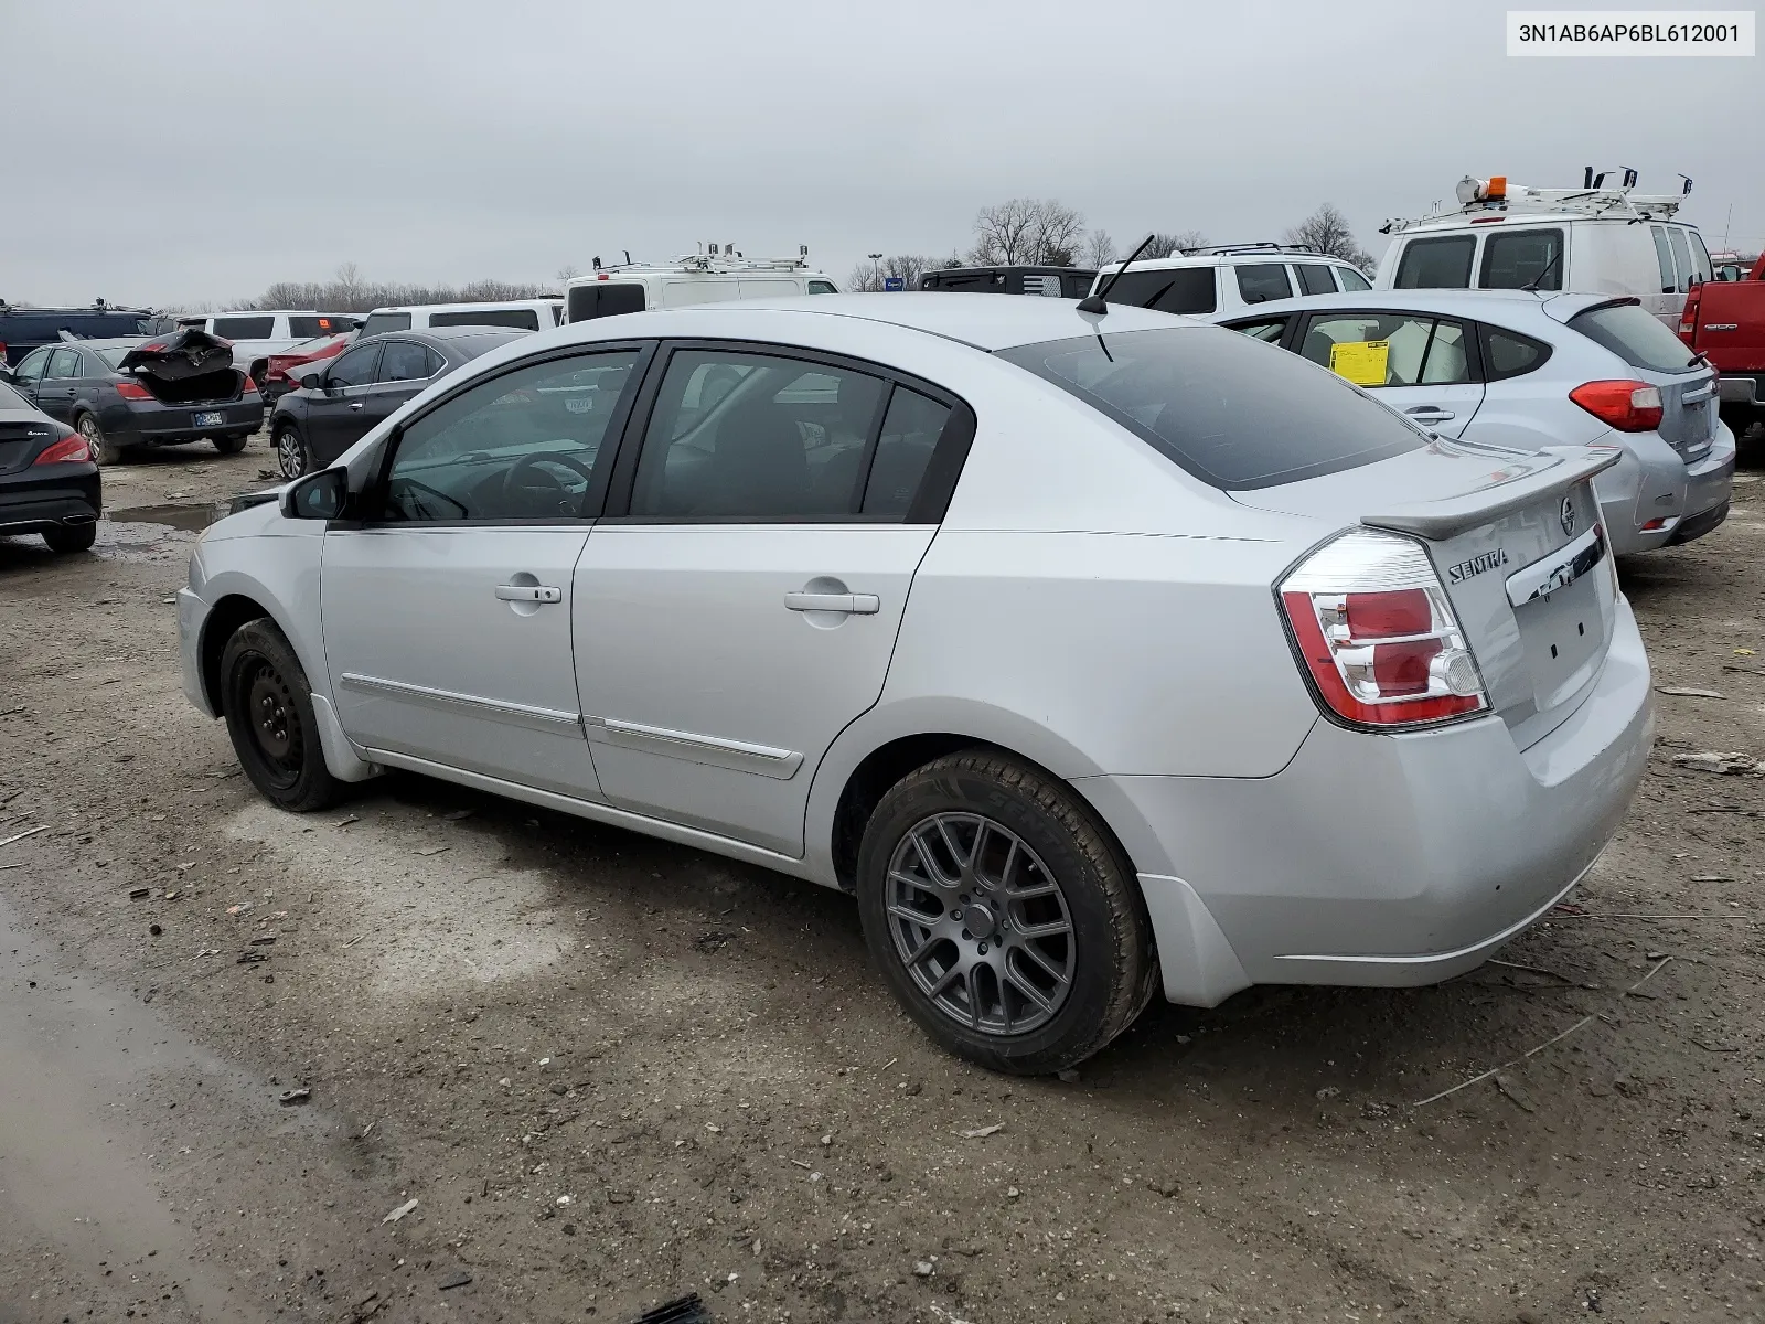
<svg viewBox="0 0 1765 1324"><path fill-rule="evenodd" d="M646 355L554 353L388 438L362 517L327 530L321 561L325 662L351 740L404 766L598 798L572 570ZM598 408L567 410L547 392L584 372Z"/></svg>

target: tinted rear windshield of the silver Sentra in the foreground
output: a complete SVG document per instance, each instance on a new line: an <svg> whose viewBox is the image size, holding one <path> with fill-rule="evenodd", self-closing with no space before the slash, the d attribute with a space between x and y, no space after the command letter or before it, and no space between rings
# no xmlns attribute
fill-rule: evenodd
<svg viewBox="0 0 1765 1324"><path fill-rule="evenodd" d="M999 357L1227 491L1317 478L1428 441L1336 374L1218 328L1105 332Z"/></svg>

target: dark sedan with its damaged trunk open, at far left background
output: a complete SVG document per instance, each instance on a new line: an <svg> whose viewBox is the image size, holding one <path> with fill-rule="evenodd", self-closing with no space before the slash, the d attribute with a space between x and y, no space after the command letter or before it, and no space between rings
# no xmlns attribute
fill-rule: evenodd
<svg viewBox="0 0 1765 1324"><path fill-rule="evenodd" d="M134 447L205 440L233 455L265 411L258 383L233 365L233 346L198 328L44 344L12 369L12 388L79 433L99 464Z"/></svg>

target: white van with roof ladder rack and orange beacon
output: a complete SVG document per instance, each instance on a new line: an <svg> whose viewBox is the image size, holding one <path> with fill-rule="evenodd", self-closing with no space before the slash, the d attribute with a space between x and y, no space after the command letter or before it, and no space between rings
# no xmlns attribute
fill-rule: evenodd
<svg viewBox="0 0 1765 1324"><path fill-rule="evenodd" d="M1710 254L1677 219L1686 192L1638 194L1636 171L1604 189L1528 189L1504 177L1465 177L1460 207L1421 221L1389 221L1391 247L1377 290L1567 290L1633 295L1679 327L1686 291L1710 279Z"/></svg>

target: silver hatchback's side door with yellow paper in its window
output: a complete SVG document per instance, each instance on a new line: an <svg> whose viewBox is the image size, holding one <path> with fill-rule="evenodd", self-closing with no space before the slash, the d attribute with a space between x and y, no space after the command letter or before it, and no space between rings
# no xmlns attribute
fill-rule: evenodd
<svg viewBox="0 0 1765 1324"><path fill-rule="evenodd" d="M1474 335L1433 312L1313 312L1294 350L1364 387L1417 427L1460 436L1483 404Z"/></svg>

